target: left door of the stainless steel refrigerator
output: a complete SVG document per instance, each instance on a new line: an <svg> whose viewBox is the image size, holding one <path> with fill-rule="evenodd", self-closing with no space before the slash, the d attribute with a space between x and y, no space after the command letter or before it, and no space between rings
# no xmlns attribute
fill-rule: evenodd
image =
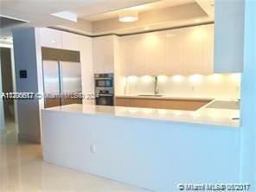
<svg viewBox="0 0 256 192"><path fill-rule="evenodd" d="M44 107L61 106L61 93L59 62L42 61L43 88L45 93Z"/></svg>

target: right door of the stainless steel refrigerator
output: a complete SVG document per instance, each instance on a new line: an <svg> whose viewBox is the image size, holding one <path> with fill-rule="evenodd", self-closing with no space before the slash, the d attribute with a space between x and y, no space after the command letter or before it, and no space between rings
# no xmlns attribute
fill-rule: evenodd
<svg viewBox="0 0 256 192"><path fill-rule="evenodd" d="M61 105L81 104L81 65L79 62L61 61Z"/></svg>

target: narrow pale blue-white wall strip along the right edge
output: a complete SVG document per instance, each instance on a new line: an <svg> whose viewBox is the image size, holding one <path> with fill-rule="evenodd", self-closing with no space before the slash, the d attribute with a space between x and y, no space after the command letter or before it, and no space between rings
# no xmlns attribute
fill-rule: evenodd
<svg viewBox="0 0 256 192"><path fill-rule="evenodd" d="M256 191L256 2L246 1L245 61L241 86L241 181Z"/></svg>

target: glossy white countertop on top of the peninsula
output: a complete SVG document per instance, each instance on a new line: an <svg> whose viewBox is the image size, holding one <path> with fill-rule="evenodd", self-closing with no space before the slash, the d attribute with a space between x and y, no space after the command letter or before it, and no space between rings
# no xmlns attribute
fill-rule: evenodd
<svg viewBox="0 0 256 192"><path fill-rule="evenodd" d="M222 125L230 127L240 126L240 120L232 119L240 117L240 110L214 109L206 107L202 107L195 112L191 112L127 106L95 106L73 104L68 106L52 107L44 109L44 111L84 113L122 118L153 119L202 125Z"/></svg>

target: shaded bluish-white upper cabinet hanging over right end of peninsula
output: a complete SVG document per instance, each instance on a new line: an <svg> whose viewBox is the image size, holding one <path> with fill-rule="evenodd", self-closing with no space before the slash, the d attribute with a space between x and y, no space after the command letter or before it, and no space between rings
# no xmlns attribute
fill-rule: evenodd
<svg viewBox="0 0 256 192"><path fill-rule="evenodd" d="M215 0L214 4L214 72L242 72L245 1Z"/></svg>

